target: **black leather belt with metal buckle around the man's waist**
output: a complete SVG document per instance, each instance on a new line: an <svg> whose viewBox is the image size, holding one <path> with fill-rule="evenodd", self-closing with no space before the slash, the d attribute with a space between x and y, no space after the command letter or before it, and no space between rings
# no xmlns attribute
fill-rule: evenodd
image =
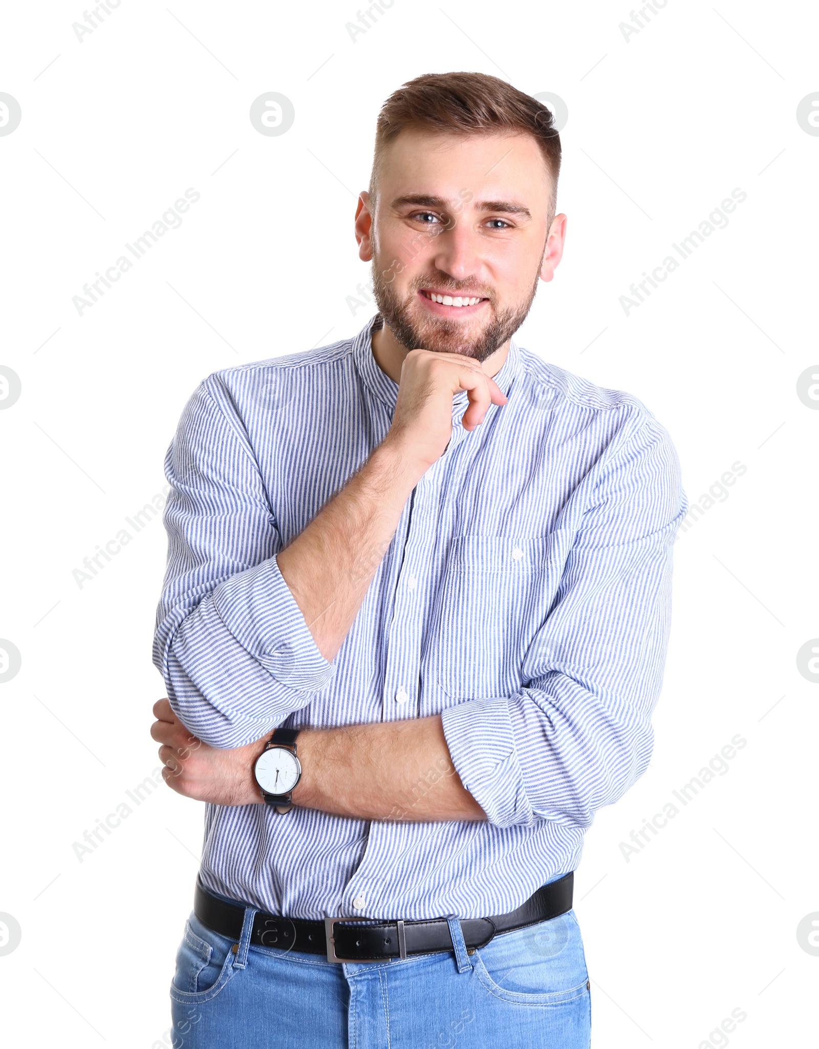
<svg viewBox="0 0 819 1049"><path fill-rule="evenodd" d="M464 942L469 951L484 947L498 933L548 921L571 911L574 874L543 885L520 907L491 918L461 918ZM245 908L212 896L196 879L193 912L200 921L220 936L238 942ZM427 921L380 921L371 918L327 918L308 921L256 913L250 942L261 947L327 955L331 962L378 962L452 950L453 940L445 918Z"/></svg>

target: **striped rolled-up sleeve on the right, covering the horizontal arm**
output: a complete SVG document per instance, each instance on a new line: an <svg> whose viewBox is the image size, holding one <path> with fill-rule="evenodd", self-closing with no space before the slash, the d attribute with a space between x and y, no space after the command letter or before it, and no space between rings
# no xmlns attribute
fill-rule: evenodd
<svg viewBox="0 0 819 1049"><path fill-rule="evenodd" d="M646 770L687 510L676 452L648 416L600 461L522 687L443 711L453 764L491 823L585 829Z"/></svg>

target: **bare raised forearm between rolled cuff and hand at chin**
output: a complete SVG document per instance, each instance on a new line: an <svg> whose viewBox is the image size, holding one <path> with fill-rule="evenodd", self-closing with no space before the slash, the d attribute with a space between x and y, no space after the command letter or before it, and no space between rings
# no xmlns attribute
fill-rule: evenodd
<svg viewBox="0 0 819 1049"><path fill-rule="evenodd" d="M397 449L380 445L276 555L278 570L328 661L350 631L420 476Z"/></svg>

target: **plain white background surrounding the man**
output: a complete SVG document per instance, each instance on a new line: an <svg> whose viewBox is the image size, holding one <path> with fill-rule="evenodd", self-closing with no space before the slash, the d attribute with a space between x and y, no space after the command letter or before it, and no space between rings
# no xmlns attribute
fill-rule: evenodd
<svg viewBox="0 0 819 1049"><path fill-rule="evenodd" d="M8 5L0 42L22 107L0 136L0 364L22 384L0 412L0 637L22 654L0 689L0 912L22 929L0 956L5 1044L167 1044L203 806L161 787L82 861L72 848L159 765L161 520L82 586L72 573L162 490L202 379L363 326L346 297L369 281L353 212L379 105L457 69L568 106L566 253L519 341L640 398L692 501L747 467L675 545L652 764L587 836L593 1044L695 1049L735 1008L737 1049L815 1044L819 957L796 928L819 911L819 688L796 654L819 635L819 411L796 389L819 360L819 137L796 108L819 91L817 9L670 0L628 42L626 0L396 0L355 42L355 9L329 2L124 0L80 43L82 18L79 0ZM280 136L249 121L266 91L295 106ZM72 296L189 187L183 226L80 316ZM730 224L626 316L618 297L737 187ZM627 861L620 843L736 733L730 771Z"/></svg>

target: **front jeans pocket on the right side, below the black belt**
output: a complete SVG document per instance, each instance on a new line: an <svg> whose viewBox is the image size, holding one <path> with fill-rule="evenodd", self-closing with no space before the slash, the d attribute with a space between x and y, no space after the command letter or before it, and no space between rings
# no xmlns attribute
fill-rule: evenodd
<svg viewBox="0 0 819 1049"><path fill-rule="evenodd" d="M588 994L580 926L572 911L496 936L472 956L489 993L519 1005L562 1005Z"/></svg>

